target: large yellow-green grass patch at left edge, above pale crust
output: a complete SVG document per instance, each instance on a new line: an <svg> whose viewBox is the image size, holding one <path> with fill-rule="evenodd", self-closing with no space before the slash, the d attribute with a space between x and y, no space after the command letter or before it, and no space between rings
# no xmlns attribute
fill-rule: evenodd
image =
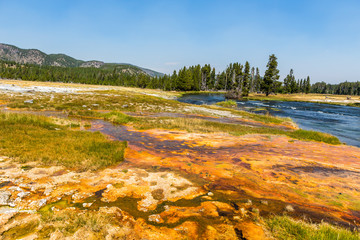
<svg viewBox="0 0 360 240"><path fill-rule="evenodd" d="M124 159L126 142L99 132L73 131L50 118L0 113L0 153L20 163L38 162L75 170L97 170Z"/></svg>

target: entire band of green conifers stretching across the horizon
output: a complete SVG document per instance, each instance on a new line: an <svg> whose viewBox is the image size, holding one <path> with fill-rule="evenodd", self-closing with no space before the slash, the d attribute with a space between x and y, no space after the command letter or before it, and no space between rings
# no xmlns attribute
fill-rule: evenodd
<svg viewBox="0 0 360 240"><path fill-rule="evenodd" d="M136 69L124 67L84 68L54 67L33 64L19 64L0 61L0 78L30 81L52 81L114 85L126 87L162 89L166 91L226 91L230 98L240 98L248 93L331 93L359 95L359 82L330 85L316 83L310 85L310 78L295 80L293 70L283 82L279 81L277 58L269 57L267 70L260 76L258 68L231 63L223 72L216 73L210 64L184 67L171 75L151 77Z"/></svg>

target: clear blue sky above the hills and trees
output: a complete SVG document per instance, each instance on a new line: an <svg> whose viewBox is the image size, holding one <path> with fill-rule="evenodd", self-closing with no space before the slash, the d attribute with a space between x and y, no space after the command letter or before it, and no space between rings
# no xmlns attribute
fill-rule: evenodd
<svg viewBox="0 0 360 240"><path fill-rule="evenodd" d="M0 42L164 73L249 61L281 79L360 80L358 0L0 0Z"/></svg>

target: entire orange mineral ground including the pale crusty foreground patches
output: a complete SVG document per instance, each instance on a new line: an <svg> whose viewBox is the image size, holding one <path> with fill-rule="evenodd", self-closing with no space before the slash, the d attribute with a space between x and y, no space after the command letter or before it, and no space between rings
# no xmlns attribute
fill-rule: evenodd
<svg viewBox="0 0 360 240"><path fill-rule="evenodd" d="M76 173L23 171L5 160L0 191L11 193L16 209L116 213L109 236L117 229L133 239L266 239L259 216L271 213L359 227L359 148L278 135L139 131L100 120L92 131L128 141L125 161ZM14 213L0 215L5 234Z"/></svg>

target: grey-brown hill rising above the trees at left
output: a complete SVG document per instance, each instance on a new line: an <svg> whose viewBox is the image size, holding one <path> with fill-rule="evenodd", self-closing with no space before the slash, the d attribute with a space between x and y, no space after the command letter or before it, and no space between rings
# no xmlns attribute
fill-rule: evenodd
<svg viewBox="0 0 360 240"><path fill-rule="evenodd" d="M54 67L94 67L99 69L119 68L129 74L147 74L163 76L162 73L125 63L104 63L102 61L82 61L65 54L46 54L37 49L21 49L13 45L0 43L0 60L20 64L36 64Z"/></svg>

